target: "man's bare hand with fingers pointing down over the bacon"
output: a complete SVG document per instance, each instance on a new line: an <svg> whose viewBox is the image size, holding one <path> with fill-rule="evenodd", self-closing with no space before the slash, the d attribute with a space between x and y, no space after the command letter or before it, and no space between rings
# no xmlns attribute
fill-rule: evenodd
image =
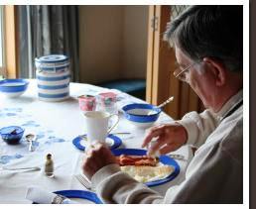
<svg viewBox="0 0 256 209"><path fill-rule="evenodd" d="M164 155L176 151L185 145L188 140L188 134L186 129L176 122L156 126L149 130L142 144L142 148L147 147L153 138L157 138L157 143L152 146L149 155L157 151L161 155Z"/></svg>

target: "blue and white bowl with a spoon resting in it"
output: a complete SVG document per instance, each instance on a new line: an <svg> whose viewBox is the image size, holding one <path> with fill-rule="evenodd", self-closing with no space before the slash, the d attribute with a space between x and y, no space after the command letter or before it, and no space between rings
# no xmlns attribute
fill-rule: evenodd
<svg viewBox="0 0 256 209"><path fill-rule="evenodd" d="M149 128L158 120L162 110L155 105L134 103L122 108L124 117L139 128ZM153 111L153 112L152 112ZM151 112L150 115L148 115Z"/></svg>

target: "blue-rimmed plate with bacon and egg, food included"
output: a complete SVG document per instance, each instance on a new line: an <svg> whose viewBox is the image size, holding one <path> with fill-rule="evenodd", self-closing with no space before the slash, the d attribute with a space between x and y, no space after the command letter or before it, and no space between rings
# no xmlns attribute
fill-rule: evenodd
<svg viewBox="0 0 256 209"><path fill-rule="evenodd" d="M169 182L180 173L177 161L168 156L148 157L146 150L112 150L121 170L147 186L157 186Z"/></svg>

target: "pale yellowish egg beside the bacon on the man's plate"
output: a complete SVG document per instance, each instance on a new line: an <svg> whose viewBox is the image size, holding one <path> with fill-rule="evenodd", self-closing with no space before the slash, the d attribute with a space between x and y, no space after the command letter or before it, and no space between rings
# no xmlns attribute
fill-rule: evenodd
<svg viewBox="0 0 256 209"><path fill-rule="evenodd" d="M146 183L149 181L166 178L174 172L174 167L159 163L157 166L121 166L121 170L128 173L131 177L139 182Z"/></svg>

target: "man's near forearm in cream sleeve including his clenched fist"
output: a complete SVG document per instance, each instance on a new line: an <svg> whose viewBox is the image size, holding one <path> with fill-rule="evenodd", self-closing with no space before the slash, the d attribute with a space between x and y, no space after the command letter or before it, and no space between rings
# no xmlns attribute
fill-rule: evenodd
<svg viewBox="0 0 256 209"><path fill-rule="evenodd" d="M122 172L111 151L102 144L89 147L83 173L105 203L160 203L163 197Z"/></svg>

